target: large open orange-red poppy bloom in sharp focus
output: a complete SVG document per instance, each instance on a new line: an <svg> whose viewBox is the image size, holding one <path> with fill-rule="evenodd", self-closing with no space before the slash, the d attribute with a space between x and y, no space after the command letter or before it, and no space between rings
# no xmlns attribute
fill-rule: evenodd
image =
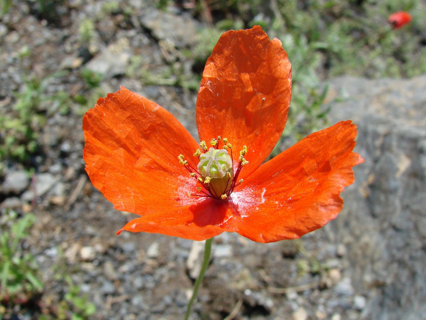
<svg viewBox="0 0 426 320"><path fill-rule="evenodd" d="M86 171L115 209L141 215L118 234L204 240L228 231L273 242L336 218L339 194L363 161L352 152L356 127L339 122L262 164L290 99L287 53L259 26L225 32L207 60L196 103L200 145L173 115L124 87L99 99L83 118Z"/></svg>

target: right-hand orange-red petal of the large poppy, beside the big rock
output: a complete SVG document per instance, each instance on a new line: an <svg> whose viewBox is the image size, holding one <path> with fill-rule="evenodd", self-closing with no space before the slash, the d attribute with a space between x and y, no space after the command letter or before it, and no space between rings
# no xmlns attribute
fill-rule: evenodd
<svg viewBox="0 0 426 320"><path fill-rule="evenodd" d="M354 182L352 167L363 158L351 152L357 130L351 121L315 132L260 166L231 195L233 228L249 239L295 239L336 218L339 197Z"/></svg>

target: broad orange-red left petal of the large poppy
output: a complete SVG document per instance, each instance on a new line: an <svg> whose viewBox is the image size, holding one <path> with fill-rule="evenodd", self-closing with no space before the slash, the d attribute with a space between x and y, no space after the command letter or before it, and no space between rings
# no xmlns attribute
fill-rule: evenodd
<svg viewBox="0 0 426 320"><path fill-rule="evenodd" d="M86 172L115 209L167 216L200 201L187 195L195 181L177 158L184 154L195 166L197 143L154 102L121 87L85 114L83 130Z"/></svg>

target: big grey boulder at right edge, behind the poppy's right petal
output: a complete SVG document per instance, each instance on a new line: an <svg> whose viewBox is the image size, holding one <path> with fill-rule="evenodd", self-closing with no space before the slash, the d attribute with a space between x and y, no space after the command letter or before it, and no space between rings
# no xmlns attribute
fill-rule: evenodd
<svg viewBox="0 0 426 320"><path fill-rule="evenodd" d="M331 122L358 126L355 183L330 224L347 248L354 291L366 319L421 319L426 314L426 76L411 80L331 81ZM323 232L323 231L322 231ZM342 280L343 282L343 280ZM360 307L360 305L358 305Z"/></svg>

